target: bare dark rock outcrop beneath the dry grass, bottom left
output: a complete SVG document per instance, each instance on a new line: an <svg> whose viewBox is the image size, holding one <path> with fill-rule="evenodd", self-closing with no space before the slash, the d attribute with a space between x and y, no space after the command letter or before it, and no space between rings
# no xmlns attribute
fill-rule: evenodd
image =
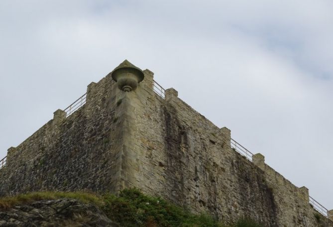
<svg viewBox="0 0 333 227"><path fill-rule="evenodd" d="M0 211L0 227L119 227L97 207L77 200L38 201Z"/></svg>

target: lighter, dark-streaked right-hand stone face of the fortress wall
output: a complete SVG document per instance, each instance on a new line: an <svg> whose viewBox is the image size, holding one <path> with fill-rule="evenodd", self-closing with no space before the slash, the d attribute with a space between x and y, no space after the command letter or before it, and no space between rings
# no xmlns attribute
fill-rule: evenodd
<svg viewBox="0 0 333 227"><path fill-rule="evenodd" d="M323 216L316 220L304 189L233 151L228 129L219 129L174 89L162 99L150 86L148 82L127 94L133 127L125 187L195 212L209 211L227 222L245 216L271 227L333 226Z"/></svg>

